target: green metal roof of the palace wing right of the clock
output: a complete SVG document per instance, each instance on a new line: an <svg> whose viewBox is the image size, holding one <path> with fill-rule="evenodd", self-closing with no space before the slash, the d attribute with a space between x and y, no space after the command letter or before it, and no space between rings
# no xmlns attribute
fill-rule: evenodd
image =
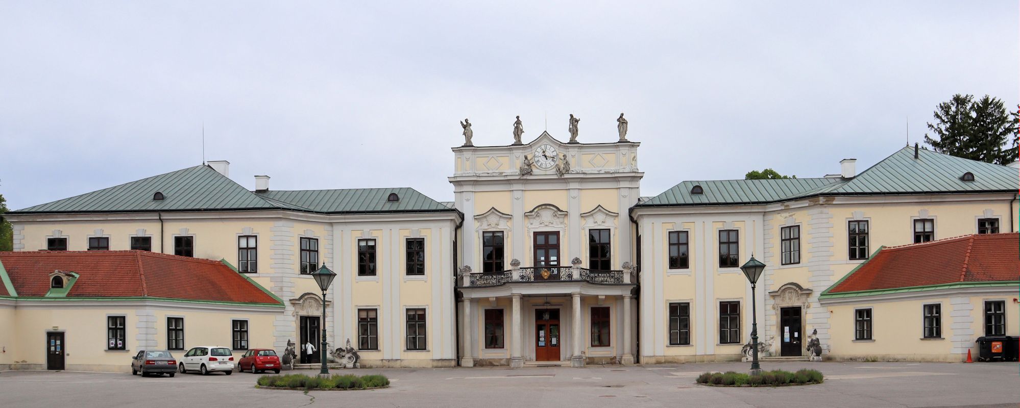
<svg viewBox="0 0 1020 408"><path fill-rule="evenodd" d="M974 174L973 182L960 177ZM900 149L853 178L782 178L683 182L643 206L758 204L814 196L1015 192L1018 170L931 150ZM701 186L704 194L691 194Z"/></svg>

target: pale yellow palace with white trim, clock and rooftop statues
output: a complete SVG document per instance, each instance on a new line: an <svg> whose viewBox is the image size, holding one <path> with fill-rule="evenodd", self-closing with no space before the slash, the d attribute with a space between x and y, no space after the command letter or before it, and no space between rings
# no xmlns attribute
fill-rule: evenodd
<svg viewBox="0 0 1020 408"><path fill-rule="evenodd" d="M828 359L961 361L986 334L982 318L1002 318L988 334L1020 334L1009 323L1020 312L1020 277L983 269L1017 257L1016 163L908 147L860 173L845 159L838 174L687 181L643 197L640 146L622 136L565 143L548 133L507 146L467 143L453 148L453 202L410 188L274 190L265 175L249 191L230 177L228 162L212 161L9 212L15 252L0 254L0 264L26 251L43 259L148 251L221 261L242 276L239 285L264 288L276 304L205 317L152 300L144 313L123 313L122 349L167 348L182 323L195 327L181 335L183 347L282 353L289 343L317 345L324 326L330 348L350 341L363 366L736 360L751 336L752 292L740 266L752 255L766 264L754 298L766 355L807 356L812 336ZM947 240L984 234L957 239L972 246ZM1008 246L1002 242L1013 252L997 250ZM905 254L912 244L950 255L924 263L923 252ZM991 249L981 262L960 263L975 246ZM898 261L881 260L888 257ZM338 273L325 299L309 275L321 265ZM963 280L946 277L965 268L974 272ZM21 267L11 279L11 268L0 267L0 324L18 333L0 336L8 351L0 367L44 364L52 333L76 351L67 364L112 364L95 357L120 350L109 348L108 313L59 318L100 304L61 302L31 324L3 317L39 309L48 295L15 287L45 285L54 272L46 269ZM87 265L57 269L84 275ZM868 277L886 274L904 277ZM194 273L163 277L202 285ZM914 283L942 286L891 294ZM993 310L981 313L988 302ZM250 346L233 342L226 322L248 313L258 315L246 320ZM927 336L933 324L938 336Z"/></svg>

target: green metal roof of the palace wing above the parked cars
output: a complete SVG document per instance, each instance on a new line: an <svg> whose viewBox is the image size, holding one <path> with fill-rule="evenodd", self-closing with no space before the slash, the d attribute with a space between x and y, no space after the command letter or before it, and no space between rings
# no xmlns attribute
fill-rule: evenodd
<svg viewBox="0 0 1020 408"><path fill-rule="evenodd" d="M153 200L157 192L163 194L163 200ZM399 200L388 201L391 193L396 193ZM207 165L197 165L8 214L260 209L322 213L456 211L409 188L253 193Z"/></svg>

